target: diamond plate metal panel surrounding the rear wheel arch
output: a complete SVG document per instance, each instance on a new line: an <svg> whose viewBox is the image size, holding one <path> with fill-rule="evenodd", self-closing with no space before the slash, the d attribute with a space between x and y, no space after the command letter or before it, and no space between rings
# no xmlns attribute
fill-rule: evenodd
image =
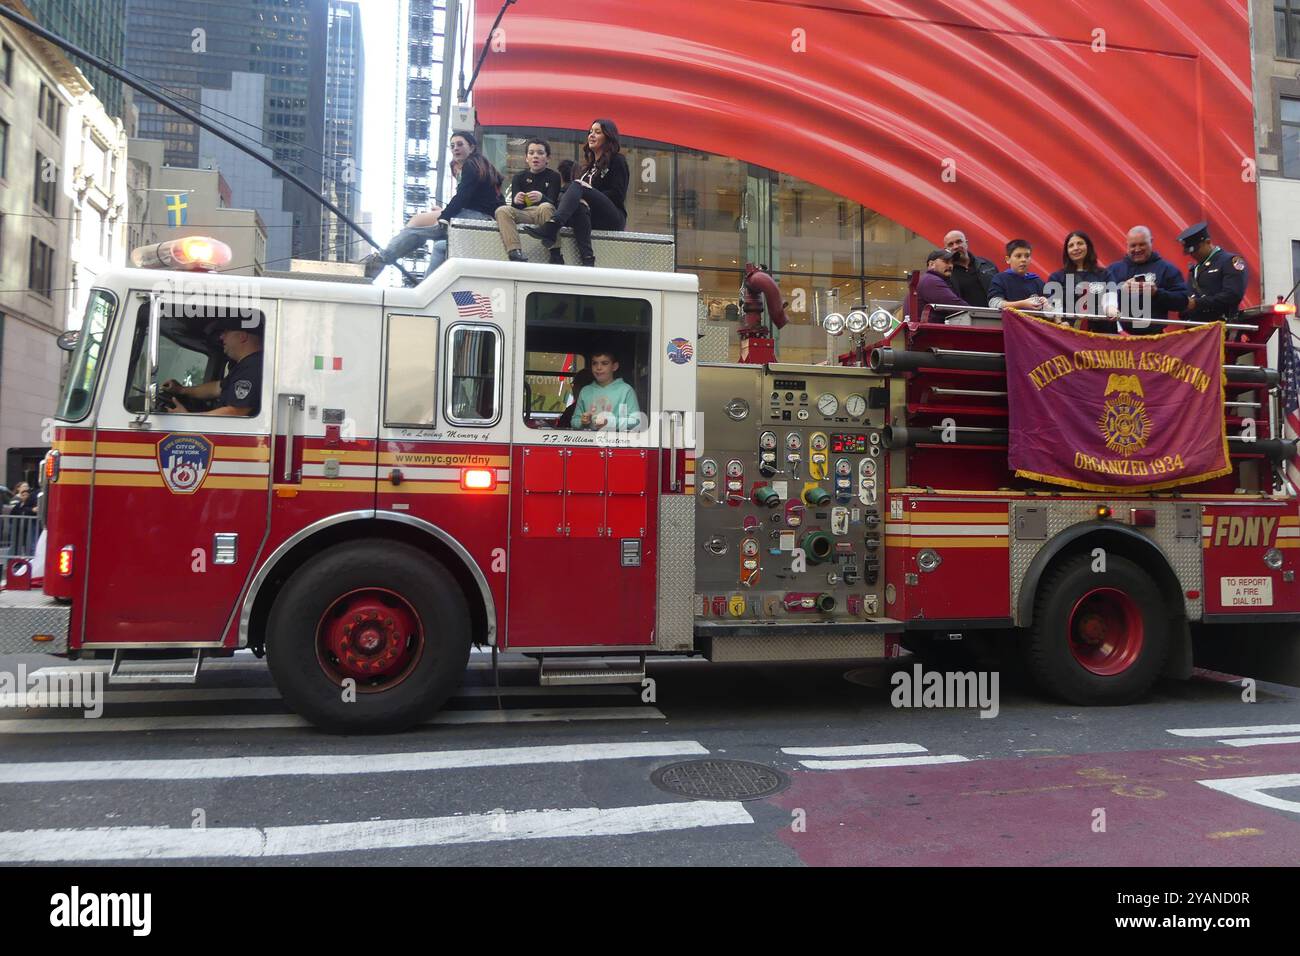
<svg viewBox="0 0 1300 956"><path fill-rule="evenodd" d="M1187 592L1195 591L1201 594L1205 591L1202 587L1201 541L1200 537L1178 537L1179 509L1188 507L1188 502L1135 502L1132 498L1097 498L1092 501L1035 501L1032 505L1013 503L1013 515L1017 516L1017 520L1019 518L1019 511L1024 507L1046 510L1045 541L1019 540L1014 535L1011 536L1011 614L1017 618L1017 623L1020 623L1019 614L1017 611L1020 606L1020 584L1024 581L1024 575L1030 570L1030 563L1037 553L1049 546L1053 538L1056 538L1056 536L1062 531L1074 524L1079 524L1080 522L1092 520L1096 516L1098 505L1110 506L1112 511L1117 515L1127 514L1127 510L1131 507L1152 509L1156 511L1154 528L1134 528L1132 525L1121 524L1118 522L1115 524L1117 527L1136 531L1160 548L1161 553L1164 553L1165 558L1169 561L1169 566L1174 570L1179 587L1183 589L1183 606L1187 611L1187 619L1200 620L1204 611L1204 600L1200 597L1187 597ZM1196 511L1196 524L1199 528L1201 520L1201 506L1192 505L1192 507Z"/></svg>

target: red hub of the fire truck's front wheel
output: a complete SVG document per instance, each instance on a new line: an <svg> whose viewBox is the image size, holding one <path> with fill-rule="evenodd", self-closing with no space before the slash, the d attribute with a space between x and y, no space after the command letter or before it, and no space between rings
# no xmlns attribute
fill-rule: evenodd
<svg viewBox="0 0 1300 956"><path fill-rule="evenodd" d="M316 627L316 657L335 683L351 678L359 691L400 683L424 653L415 609L386 588L361 588L332 604Z"/></svg>

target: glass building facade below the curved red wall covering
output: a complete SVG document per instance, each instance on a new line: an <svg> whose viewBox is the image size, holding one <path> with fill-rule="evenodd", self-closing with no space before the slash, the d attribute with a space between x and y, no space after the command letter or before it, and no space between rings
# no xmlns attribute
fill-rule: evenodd
<svg viewBox="0 0 1300 956"><path fill-rule="evenodd" d="M485 155L507 181L524 168L530 137L550 143L551 168L581 163L578 131L488 129ZM781 362L833 362L846 341L827 336L822 319L857 306L896 311L907 274L932 248L861 203L779 170L633 138L621 148L632 173L628 230L676 239L677 272L699 277L710 321L738 321L745 263L770 268L790 320L777 333ZM736 360L738 342L728 338Z"/></svg>

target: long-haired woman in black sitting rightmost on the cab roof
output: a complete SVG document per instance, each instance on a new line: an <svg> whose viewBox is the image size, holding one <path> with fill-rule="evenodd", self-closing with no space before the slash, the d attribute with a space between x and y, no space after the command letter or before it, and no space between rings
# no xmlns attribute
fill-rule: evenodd
<svg viewBox="0 0 1300 956"><path fill-rule="evenodd" d="M582 168L560 195L560 203L549 222L524 226L551 250L551 261L558 259L560 229L573 226L582 265L595 265L592 248L592 230L620 232L628 225L624 200L628 196L628 161L619 147L619 127L612 120L595 120L582 147Z"/></svg>

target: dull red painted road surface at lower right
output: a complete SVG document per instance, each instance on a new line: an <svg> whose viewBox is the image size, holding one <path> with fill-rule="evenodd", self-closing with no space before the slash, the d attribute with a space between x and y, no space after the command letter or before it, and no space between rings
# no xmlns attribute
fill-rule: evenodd
<svg viewBox="0 0 1300 956"><path fill-rule="evenodd" d="M1295 745L800 769L775 803L806 809L781 839L820 866L1294 866L1300 814L1197 780L1296 773Z"/></svg>

